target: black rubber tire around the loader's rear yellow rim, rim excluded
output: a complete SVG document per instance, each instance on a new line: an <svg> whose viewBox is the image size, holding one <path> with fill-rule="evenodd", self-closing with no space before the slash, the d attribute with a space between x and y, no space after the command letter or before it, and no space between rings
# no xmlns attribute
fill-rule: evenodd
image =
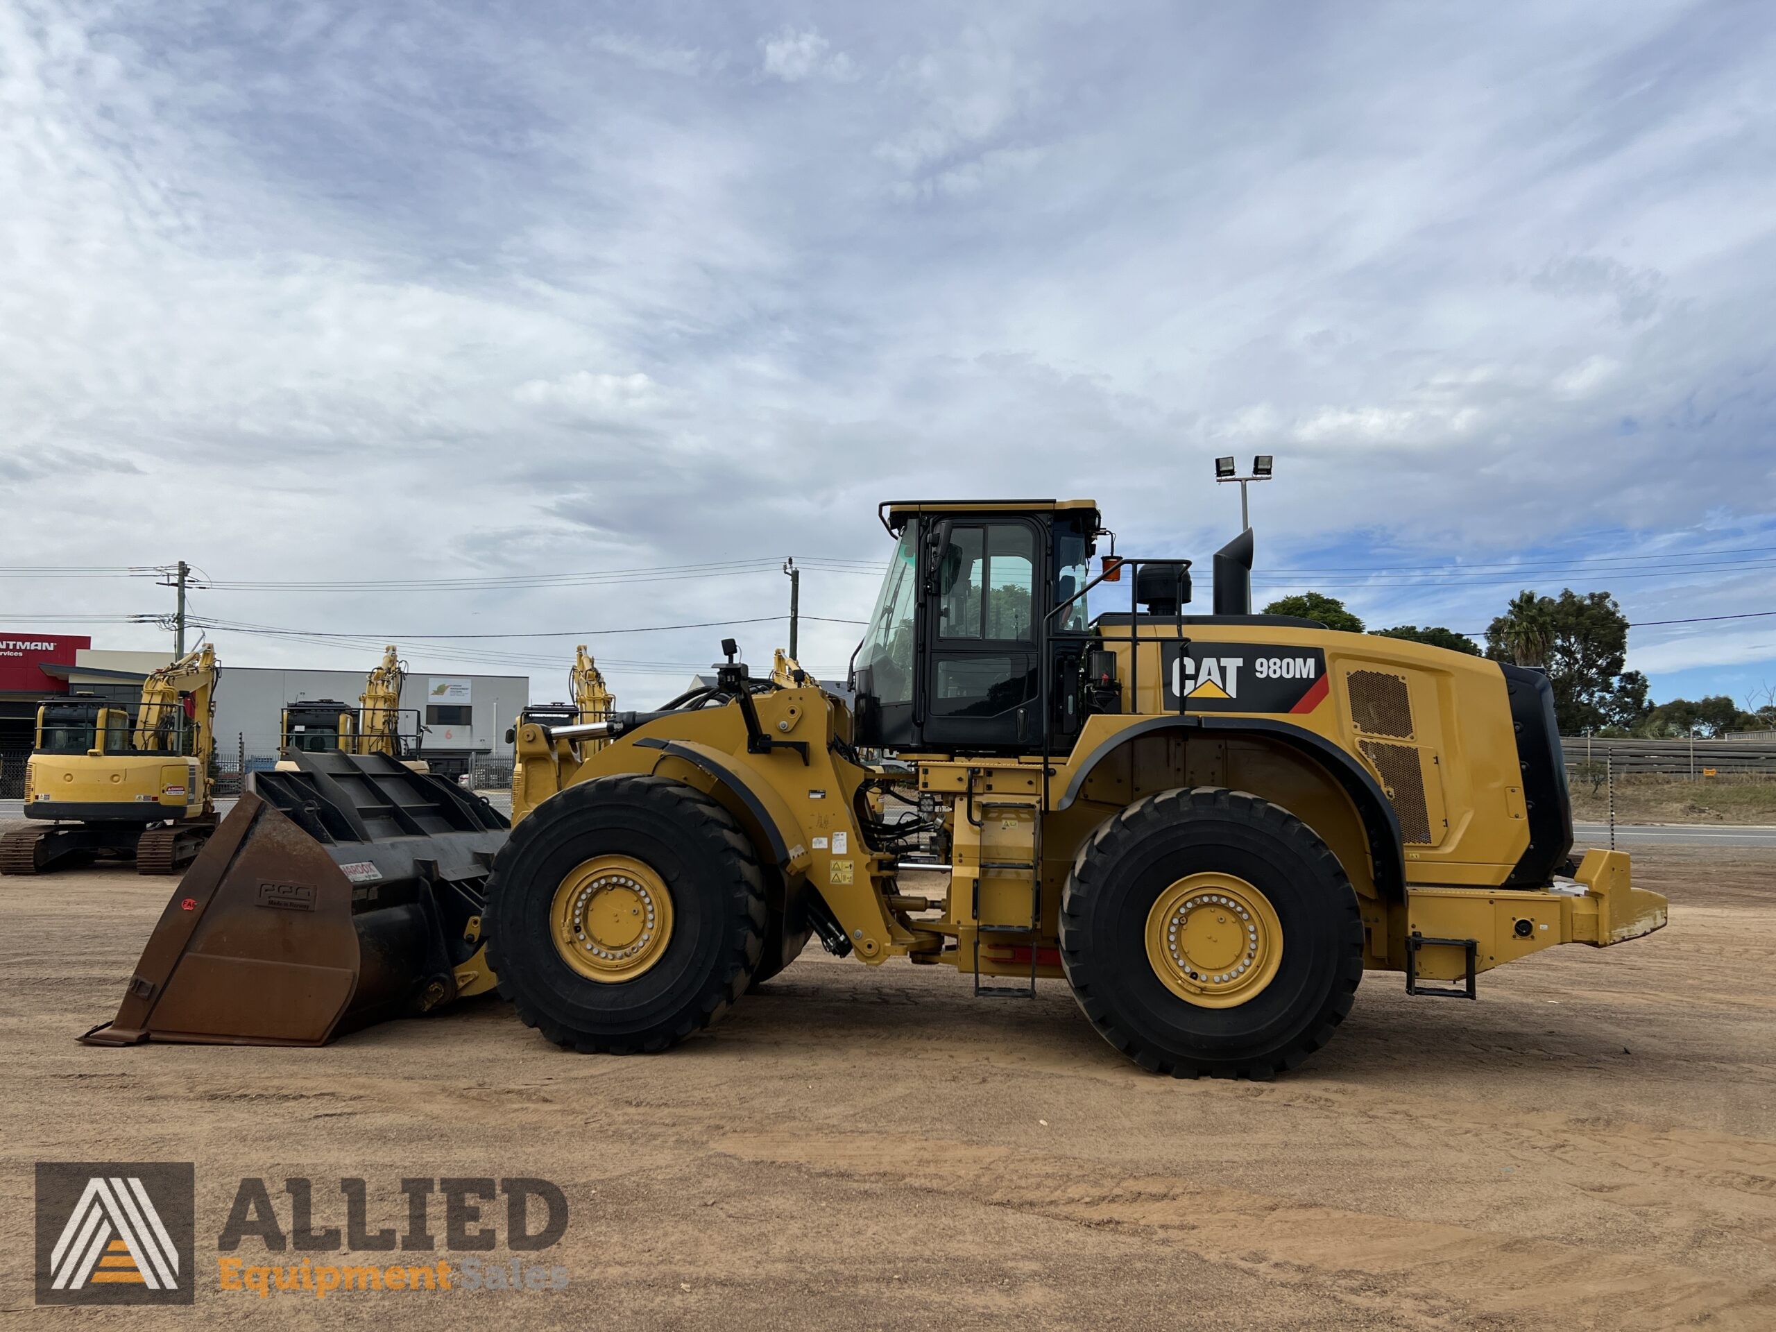
<svg viewBox="0 0 1776 1332"><path fill-rule="evenodd" d="M1229 1009L1192 1005L1154 975L1147 918L1167 886L1222 872L1282 925L1272 982ZM1266 1078L1318 1050L1362 979L1362 920L1337 858L1300 819L1204 787L1137 801L1090 836L1062 895L1060 959L1080 1007L1149 1069Z"/></svg>

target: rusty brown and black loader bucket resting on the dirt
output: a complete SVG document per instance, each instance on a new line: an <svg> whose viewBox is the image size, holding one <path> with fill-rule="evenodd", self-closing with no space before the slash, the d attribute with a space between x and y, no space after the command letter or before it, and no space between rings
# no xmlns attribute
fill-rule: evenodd
<svg viewBox="0 0 1776 1332"><path fill-rule="evenodd" d="M456 998L510 822L387 755L254 773L85 1044L318 1046Z"/></svg>

